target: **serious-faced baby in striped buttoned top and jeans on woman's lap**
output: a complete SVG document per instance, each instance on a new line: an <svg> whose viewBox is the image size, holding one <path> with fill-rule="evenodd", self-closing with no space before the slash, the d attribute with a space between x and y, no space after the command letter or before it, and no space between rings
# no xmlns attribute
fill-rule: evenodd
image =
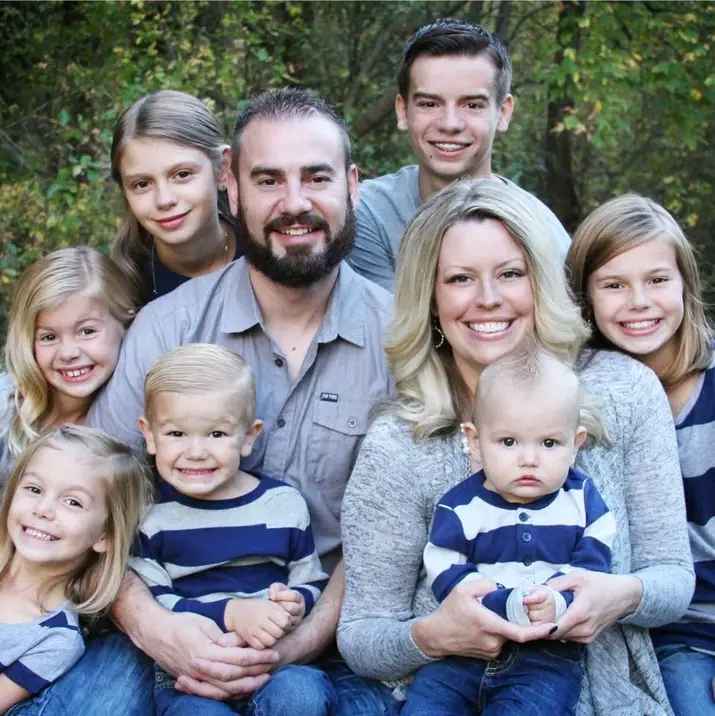
<svg viewBox="0 0 715 716"><path fill-rule="evenodd" d="M477 427L462 425L472 467L482 469L439 501L424 551L440 602L478 580L491 590L482 604L502 618L556 622L573 593L551 589L549 579L574 567L610 571L615 521L590 478L572 467L587 438L583 408L575 373L543 349L482 371ZM401 713L472 713L487 704L504 714L572 713L581 652L577 644L541 641L509 644L491 662L436 661L417 672Z"/></svg>

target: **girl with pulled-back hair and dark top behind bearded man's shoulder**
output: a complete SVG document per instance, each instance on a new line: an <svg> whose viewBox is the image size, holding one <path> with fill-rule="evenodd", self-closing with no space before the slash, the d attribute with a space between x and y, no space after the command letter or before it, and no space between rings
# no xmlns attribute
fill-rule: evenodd
<svg viewBox="0 0 715 716"><path fill-rule="evenodd" d="M142 303L240 255L231 152L203 102L171 90L137 100L117 121L111 159L127 209L112 255Z"/></svg>

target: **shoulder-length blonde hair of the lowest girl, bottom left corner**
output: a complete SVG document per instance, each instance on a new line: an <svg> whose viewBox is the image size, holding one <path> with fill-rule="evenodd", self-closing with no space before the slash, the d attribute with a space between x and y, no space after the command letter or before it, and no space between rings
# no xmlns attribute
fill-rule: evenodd
<svg viewBox="0 0 715 716"><path fill-rule="evenodd" d="M143 463L123 443L99 430L65 425L43 434L22 452L10 474L0 503L0 579L15 553L7 529L10 503L28 465L43 448L79 449L96 462L96 479L105 487L107 550L88 550L84 561L59 580L65 597L80 614L99 615L112 604L126 572L129 548L149 504L150 477ZM51 589L57 582L44 585Z"/></svg>

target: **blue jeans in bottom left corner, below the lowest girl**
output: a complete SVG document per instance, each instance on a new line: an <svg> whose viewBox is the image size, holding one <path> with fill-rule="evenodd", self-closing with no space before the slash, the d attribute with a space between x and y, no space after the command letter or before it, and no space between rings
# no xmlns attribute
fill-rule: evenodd
<svg viewBox="0 0 715 716"><path fill-rule="evenodd" d="M87 641L82 658L7 716L153 716L152 662L119 632Z"/></svg>

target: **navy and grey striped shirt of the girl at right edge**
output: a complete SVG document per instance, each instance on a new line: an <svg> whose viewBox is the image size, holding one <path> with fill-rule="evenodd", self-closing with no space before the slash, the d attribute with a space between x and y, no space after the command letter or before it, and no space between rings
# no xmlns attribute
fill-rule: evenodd
<svg viewBox="0 0 715 716"><path fill-rule="evenodd" d="M687 644L715 654L715 366L675 420L685 488L695 594L685 616L653 629L657 646Z"/></svg>

